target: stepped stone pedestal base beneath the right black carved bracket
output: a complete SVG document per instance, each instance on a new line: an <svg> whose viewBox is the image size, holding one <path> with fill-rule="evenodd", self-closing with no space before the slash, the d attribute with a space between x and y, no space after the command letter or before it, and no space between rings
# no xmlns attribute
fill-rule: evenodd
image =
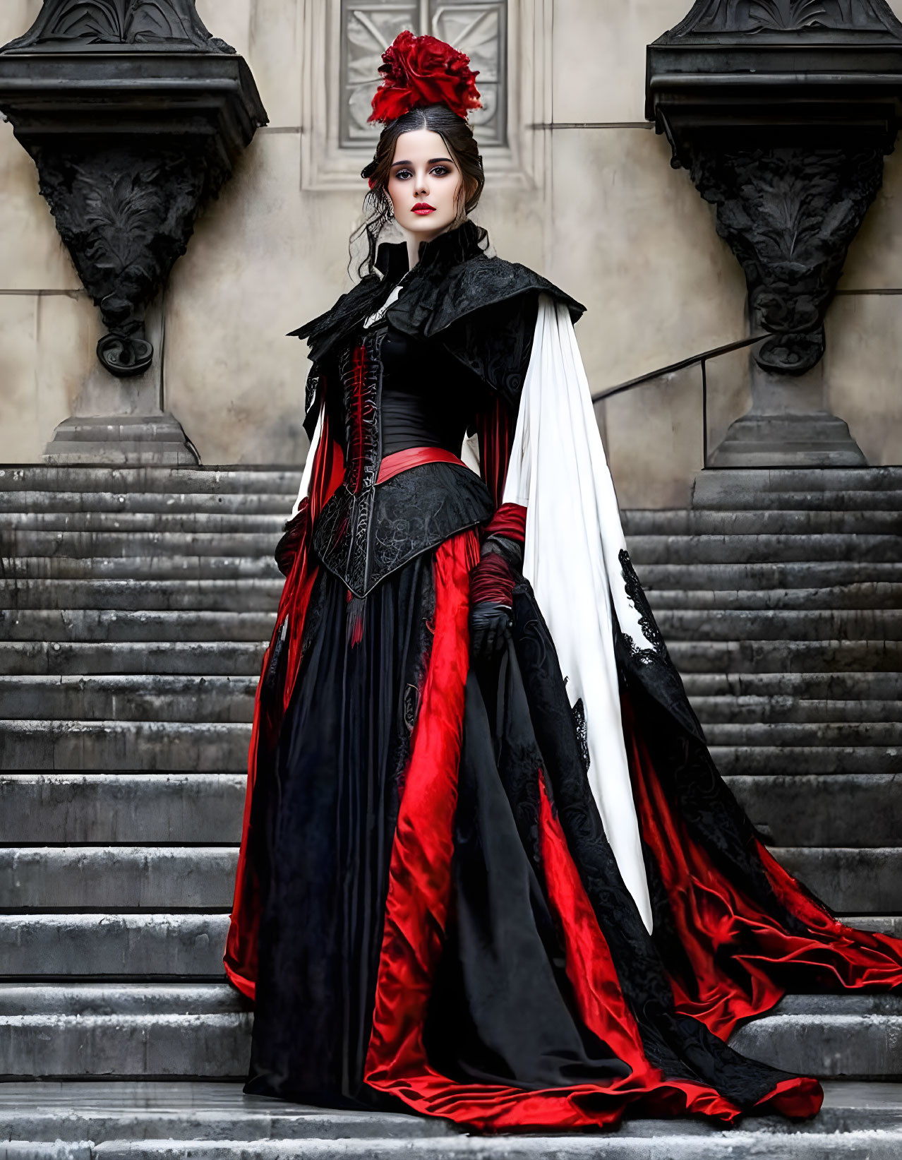
<svg viewBox="0 0 902 1160"><path fill-rule="evenodd" d="M711 467L866 467L849 425L827 411L737 419Z"/></svg>

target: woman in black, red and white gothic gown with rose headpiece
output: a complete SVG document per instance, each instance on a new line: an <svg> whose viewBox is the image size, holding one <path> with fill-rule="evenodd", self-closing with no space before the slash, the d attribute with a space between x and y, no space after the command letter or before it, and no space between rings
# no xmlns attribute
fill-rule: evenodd
<svg viewBox="0 0 902 1160"><path fill-rule="evenodd" d="M626 552L583 307L467 217L467 58L405 32L384 59L369 273L294 332L312 447L226 949L246 1090L483 1130L812 1115L815 1080L723 1041L791 988L899 985L902 944L837 923L718 776Z"/></svg>

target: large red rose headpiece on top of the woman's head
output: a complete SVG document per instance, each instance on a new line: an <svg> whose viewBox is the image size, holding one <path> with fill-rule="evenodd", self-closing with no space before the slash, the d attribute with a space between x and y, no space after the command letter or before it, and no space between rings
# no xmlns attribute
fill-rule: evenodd
<svg viewBox="0 0 902 1160"><path fill-rule="evenodd" d="M372 99L368 121L394 121L422 104L446 104L459 117L481 109L478 72L470 57L435 36L414 36L405 29L383 52L385 74Z"/></svg>

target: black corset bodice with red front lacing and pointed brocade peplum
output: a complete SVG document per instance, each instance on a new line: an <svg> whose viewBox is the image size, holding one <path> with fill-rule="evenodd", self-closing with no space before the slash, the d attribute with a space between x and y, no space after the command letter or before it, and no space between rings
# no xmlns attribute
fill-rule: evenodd
<svg viewBox="0 0 902 1160"><path fill-rule="evenodd" d="M425 463L379 483L383 459L415 447L460 455L485 387L441 346L385 321L343 347L327 384L329 430L344 479L313 529L322 564L365 596L408 560L492 515L482 480L454 463Z"/></svg>

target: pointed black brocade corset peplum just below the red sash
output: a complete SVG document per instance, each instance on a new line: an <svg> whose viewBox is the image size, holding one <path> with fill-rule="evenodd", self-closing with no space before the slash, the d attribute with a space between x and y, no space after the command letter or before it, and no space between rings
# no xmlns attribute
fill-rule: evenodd
<svg viewBox="0 0 902 1160"><path fill-rule="evenodd" d="M361 494L342 485L317 520L313 549L355 596L366 596L408 560L492 512L475 472L425 463Z"/></svg>

